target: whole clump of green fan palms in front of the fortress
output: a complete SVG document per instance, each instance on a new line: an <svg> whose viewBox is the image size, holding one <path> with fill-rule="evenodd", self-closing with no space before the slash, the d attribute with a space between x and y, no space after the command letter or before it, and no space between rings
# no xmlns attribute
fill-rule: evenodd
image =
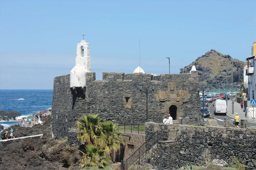
<svg viewBox="0 0 256 170"><path fill-rule="evenodd" d="M91 166L103 167L108 160L108 157L102 155L110 155L110 151L117 150L121 141L122 132L118 132L118 124L105 119L100 119L99 115L83 115L76 126L79 128L77 134L78 140L81 143L86 143L86 153L83 153L83 159L80 162L81 167L86 166L88 157L91 158ZM89 148L88 148L89 147ZM99 157L99 159L96 158ZM98 162L97 165L95 162Z"/></svg>

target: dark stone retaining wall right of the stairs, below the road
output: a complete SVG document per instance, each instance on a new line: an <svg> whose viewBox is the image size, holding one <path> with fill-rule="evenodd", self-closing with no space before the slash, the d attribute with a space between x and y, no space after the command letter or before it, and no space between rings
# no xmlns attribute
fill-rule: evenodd
<svg viewBox="0 0 256 170"><path fill-rule="evenodd" d="M155 131L177 131L177 142L155 145L151 149L151 164L162 169L177 169L192 165L207 165L213 159L223 159L229 165L236 156L247 169L256 169L256 129L196 127L145 123L146 139Z"/></svg>

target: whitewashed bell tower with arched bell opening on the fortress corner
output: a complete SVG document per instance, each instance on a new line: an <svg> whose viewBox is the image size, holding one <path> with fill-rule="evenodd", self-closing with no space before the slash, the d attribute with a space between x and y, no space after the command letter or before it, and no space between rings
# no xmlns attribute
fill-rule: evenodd
<svg viewBox="0 0 256 170"><path fill-rule="evenodd" d="M86 72L91 71L90 44L77 44L76 66L70 71L70 87L86 87Z"/></svg>

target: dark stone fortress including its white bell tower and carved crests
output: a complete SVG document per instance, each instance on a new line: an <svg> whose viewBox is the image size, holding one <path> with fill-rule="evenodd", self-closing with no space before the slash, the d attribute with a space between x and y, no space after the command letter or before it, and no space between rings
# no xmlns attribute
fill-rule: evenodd
<svg viewBox="0 0 256 170"><path fill-rule="evenodd" d="M195 70L195 69L193 69ZM120 123L144 124L147 119L162 122L169 113L175 124L200 121L201 112L197 71L187 74L146 74L138 67L133 74L103 72L103 80L95 80L91 71L89 43L77 44L76 65L70 75L54 78L51 129L54 136L67 136L69 128L81 115L99 114L101 118ZM155 83L155 90L140 92Z"/></svg>

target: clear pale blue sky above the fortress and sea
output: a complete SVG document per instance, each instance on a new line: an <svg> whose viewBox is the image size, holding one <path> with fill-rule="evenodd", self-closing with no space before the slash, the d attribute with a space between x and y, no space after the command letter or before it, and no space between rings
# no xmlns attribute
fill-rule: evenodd
<svg viewBox="0 0 256 170"><path fill-rule="evenodd" d="M245 60L256 1L1 1L0 89L52 89L85 34L91 70L171 73L215 49Z"/></svg>

